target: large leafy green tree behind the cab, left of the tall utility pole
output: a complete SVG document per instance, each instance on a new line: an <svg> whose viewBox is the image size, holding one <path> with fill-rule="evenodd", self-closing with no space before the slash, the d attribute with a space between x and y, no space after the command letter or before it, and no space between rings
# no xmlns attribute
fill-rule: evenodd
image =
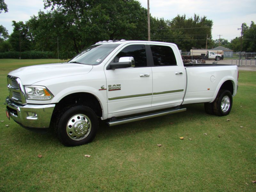
<svg viewBox="0 0 256 192"><path fill-rule="evenodd" d="M26 23L37 50L74 56L98 41L147 40L147 10L138 1L44 0L46 13L38 12Z"/></svg>

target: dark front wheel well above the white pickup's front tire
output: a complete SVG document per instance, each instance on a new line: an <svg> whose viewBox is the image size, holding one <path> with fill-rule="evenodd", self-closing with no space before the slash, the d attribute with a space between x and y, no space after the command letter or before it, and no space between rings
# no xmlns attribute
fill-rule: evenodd
<svg viewBox="0 0 256 192"><path fill-rule="evenodd" d="M58 111L72 105L86 105L90 107L97 116L102 116L102 109L98 99L94 95L84 92L72 93L65 96L59 101L59 103L56 104L54 111Z"/></svg>

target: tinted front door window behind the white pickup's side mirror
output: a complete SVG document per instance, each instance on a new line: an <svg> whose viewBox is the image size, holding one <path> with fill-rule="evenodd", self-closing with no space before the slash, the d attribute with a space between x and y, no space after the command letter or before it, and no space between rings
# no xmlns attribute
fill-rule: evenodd
<svg viewBox="0 0 256 192"><path fill-rule="evenodd" d="M118 62L120 57L133 57L135 67L146 67L147 56L145 45L129 45L120 51L112 62Z"/></svg>

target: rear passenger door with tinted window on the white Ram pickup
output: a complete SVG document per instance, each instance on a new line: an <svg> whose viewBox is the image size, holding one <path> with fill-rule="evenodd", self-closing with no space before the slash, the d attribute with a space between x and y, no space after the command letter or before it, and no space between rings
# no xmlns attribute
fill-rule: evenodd
<svg viewBox="0 0 256 192"><path fill-rule="evenodd" d="M177 47L170 44L149 44L153 60L152 107L178 106L185 94L186 72ZM178 60L176 60L178 58Z"/></svg>

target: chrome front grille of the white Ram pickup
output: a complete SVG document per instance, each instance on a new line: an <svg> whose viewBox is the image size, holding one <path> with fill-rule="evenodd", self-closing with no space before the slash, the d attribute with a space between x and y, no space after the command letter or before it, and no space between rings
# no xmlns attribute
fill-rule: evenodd
<svg viewBox="0 0 256 192"><path fill-rule="evenodd" d="M7 84L10 99L16 103L26 104L24 88L20 79L18 77L8 75Z"/></svg>

